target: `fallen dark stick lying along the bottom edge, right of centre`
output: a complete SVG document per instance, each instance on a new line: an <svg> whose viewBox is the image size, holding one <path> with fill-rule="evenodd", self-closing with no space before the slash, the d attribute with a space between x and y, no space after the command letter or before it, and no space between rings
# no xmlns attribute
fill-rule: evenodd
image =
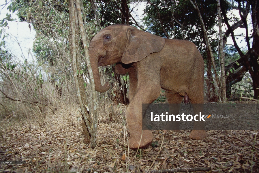
<svg viewBox="0 0 259 173"><path fill-rule="evenodd" d="M194 172L194 171L210 171L211 167L193 167L193 168L174 168L167 170L144 171L145 173L170 173L170 172Z"/></svg>

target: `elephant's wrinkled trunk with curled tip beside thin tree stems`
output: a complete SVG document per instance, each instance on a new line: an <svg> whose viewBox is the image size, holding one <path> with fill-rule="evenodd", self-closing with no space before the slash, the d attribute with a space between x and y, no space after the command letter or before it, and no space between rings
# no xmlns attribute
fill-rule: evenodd
<svg viewBox="0 0 259 173"><path fill-rule="evenodd" d="M104 85L101 84L101 78L98 69L99 56L95 55L92 50L89 50L90 63L93 71L93 78L95 84L95 90L104 93L110 88L109 83L106 82Z"/></svg>

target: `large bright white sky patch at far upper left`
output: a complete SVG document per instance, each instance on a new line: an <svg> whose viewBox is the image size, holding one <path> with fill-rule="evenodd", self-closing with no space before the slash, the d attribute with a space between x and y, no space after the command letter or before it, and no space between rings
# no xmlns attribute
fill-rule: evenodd
<svg viewBox="0 0 259 173"><path fill-rule="evenodd" d="M5 0L0 0L0 5L5 4ZM16 21L9 21L8 27L3 27L3 32L6 32L9 34L8 37L5 37L5 47L6 49L12 53L15 57L19 59L26 58L28 61L32 61L31 55L33 55L32 49L33 49L33 42L35 38L36 31L33 29L32 24L31 25L31 31L29 29L29 24L27 22L17 22L18 16L9 10L7 10L6 5L4 8L3 6L0 7L0 20L6 17L6 14L12 15L13 19L16 19ZM2 34L3 35L3 34ZM3 48L3 47L1 47ZM31 53L29 53L29 51ZM33 55L34 56L34 55Z"/></svg>

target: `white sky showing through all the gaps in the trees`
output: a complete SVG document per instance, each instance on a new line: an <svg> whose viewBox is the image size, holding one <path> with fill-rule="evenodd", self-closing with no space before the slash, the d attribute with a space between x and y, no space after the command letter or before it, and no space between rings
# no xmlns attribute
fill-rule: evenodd
<svg viewBox="0 0 259 173"><path fill-rule="evenodd" d="M0 0L0 5L4 3L5 3L5 0ZM136 3L130 4L130 7L132 8L135 5ZM132 16L138 22L141 22L141 19L144 17L143 10L145 5L146 3L141 2L138 4L137 7L134 8ZM2 8L3 6L0 7L0 9ZM7 12L10 13L9 10L7 10L7 6L5 6L0 12L0 20L6 17ZM235 11L233 10L229 15L231 14L240 18L237 10ZM32 60L31 55L33 55L33 52L32 52L33 42L34 42L36 31L33 29L32 25L31 25L31 31L30 31L28 26L29 24L27 22L17 22L18 16L16 14L12 14L12 18L16 18L16 21L8 22L8 27L3 28L4 31L9 34L9 36L5 38L6 48L17 58L19 59L26 58L28 61L31 61ZM251 19L251 16L250 16L250 19ZM226 27L223 27L222 30L226 31ZM249 31L251 30L252 30L252 26L249 25ZM245 29L238 28L234 32L235 32L235 35L238 35L241 33L245 33ZM245 48L246 43L244 39L239 39L237 40L237 42L239 46L242 46L243 48ZM228 37L227 44L233 44L231 37Z"/></svg>

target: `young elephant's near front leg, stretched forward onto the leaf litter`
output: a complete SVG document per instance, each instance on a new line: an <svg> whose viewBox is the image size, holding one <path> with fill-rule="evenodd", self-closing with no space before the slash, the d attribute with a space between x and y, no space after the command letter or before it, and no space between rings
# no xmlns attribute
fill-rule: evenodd
<svg viewBox="0 0 259 173"><path fill-rule="evenodd" d="M151 79L138 83L136 94L129 103L126 113L130 134L129 148L144 148L151 144L153 134L150 130L142 130L142 104L152 103L160 95L160 92L159 80Z"/></svg>

